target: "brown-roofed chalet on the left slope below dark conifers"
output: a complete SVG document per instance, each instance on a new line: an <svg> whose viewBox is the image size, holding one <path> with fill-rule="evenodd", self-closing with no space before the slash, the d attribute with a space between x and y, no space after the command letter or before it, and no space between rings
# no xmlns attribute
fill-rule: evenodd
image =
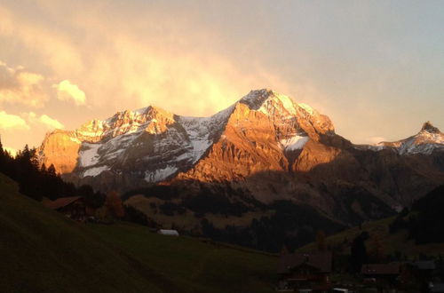
<svg viewBox="0 0 444 293"><path fill-rule="evenodd" d="M90 210L82 196L60 197L55 201L46 202L44 205L80 222L86 220L89 215L88 210Z"/></svg>

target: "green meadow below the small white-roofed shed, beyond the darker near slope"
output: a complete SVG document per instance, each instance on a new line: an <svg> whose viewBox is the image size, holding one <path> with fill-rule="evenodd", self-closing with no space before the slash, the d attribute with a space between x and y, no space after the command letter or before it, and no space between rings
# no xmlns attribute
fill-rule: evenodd
<svg viewBox="0 0 444 293"><path fill-rule="evenodd" d="M271 292L277 257L190 237L151 234L139 226L94 226L113 245L168 275L174 283L202 292Z"/></svg>

